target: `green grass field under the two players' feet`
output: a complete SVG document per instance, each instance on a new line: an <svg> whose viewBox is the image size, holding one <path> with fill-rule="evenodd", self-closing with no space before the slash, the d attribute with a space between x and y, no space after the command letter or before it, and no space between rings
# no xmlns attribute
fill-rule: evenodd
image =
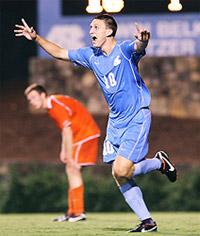
<svg viewBox="0 0 200 236"><path fill-rule="evenodd" d="M200 213L154 212L158 232L150 235L200 235ZM55 223L58 214L1 214L0 236L122 236L139 223L131 213L88 213L87 221ZM138 233L136 234L138 235ZM140 235L140 234L139 234Z"/></svg>

